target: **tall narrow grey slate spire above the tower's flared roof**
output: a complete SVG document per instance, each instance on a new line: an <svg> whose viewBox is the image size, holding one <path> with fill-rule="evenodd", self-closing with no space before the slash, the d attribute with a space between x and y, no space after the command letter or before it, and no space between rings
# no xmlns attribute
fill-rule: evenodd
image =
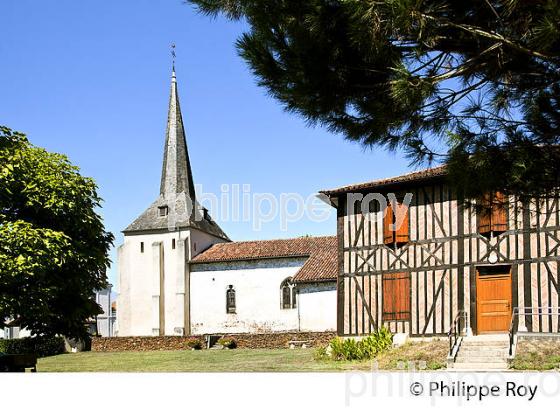
<svg viewBox="0 0 560 410"><path fill-rule="evenodd" d="M195 203L192 170L187 151L183 117L179 105L175 66L173 66L160 194L165 199L172 199L175 198L176 194L182 192L191 199L193 204Z"/></svg>

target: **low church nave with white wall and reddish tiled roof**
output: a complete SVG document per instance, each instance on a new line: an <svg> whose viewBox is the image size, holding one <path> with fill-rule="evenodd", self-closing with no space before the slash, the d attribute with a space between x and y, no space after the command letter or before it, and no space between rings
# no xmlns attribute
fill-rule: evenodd
<svg viewBox="0 0 560 410"><path fill-rule="evenodd" d="M190 265L194 334L336 328L335 237L223 243Z"/></svg>

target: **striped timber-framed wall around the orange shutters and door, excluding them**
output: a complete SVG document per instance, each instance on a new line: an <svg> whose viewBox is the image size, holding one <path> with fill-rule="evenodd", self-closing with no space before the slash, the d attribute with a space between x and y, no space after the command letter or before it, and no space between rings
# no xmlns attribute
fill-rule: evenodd
<svg viewBox="0 0 560 410"><path fill-rule="evenodd" d="M558 197L523 203L507 197L507 230L487 236L478 233L476 207L465 206L442 178L360 189L324 192L337 207L339 335L381 326L411 336L445 335L459 311L468 313L476 334L476 272L484 265L511 267L513 307L560 307ZM412 193L408 243L384 245L380 203L368 201L364 214L361 201L348 195L368 193ZM383 320L382 277L401 272L411 278L410 317ZM559 321L534 315L519 325L560 332Z"/></svg>

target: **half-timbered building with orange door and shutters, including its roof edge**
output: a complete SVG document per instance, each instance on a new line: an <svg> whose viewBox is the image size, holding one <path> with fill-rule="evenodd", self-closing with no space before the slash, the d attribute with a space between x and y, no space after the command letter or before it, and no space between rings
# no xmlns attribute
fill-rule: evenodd
<svg viewBox="0 0 560 410"><path fill-rule="evenodd" d="M323 191L338 215L337 330L559 332L556 198L457 197L445 167Z"/></svg>

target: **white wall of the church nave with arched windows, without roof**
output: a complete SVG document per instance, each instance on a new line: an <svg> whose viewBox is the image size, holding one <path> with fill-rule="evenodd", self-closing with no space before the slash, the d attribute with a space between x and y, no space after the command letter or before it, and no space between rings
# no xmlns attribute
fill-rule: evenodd
<svg viewBox="0 0 560 410"><path fill-rule="evenodd" d="M336 284L298 285L297 307L281 308L280 285L306 258L193 264L191 331L262 333L325 331L336 328ZM226 312L226 290L233 285L236 313Z"/></svg>

